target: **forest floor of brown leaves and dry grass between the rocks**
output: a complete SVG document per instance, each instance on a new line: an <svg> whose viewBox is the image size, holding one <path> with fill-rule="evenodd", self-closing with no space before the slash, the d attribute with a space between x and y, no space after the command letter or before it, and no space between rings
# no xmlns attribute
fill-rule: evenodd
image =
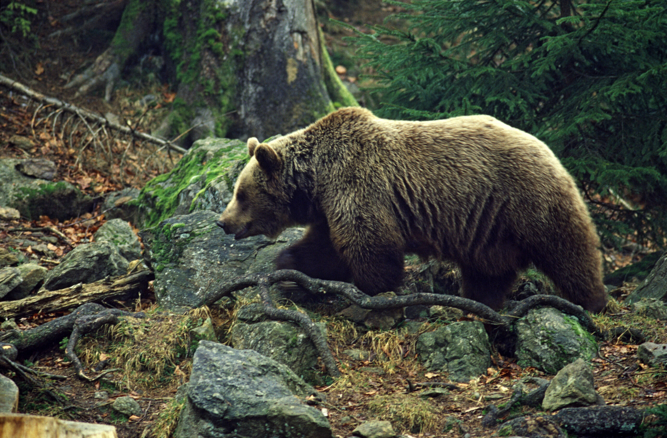
<svg viewBox="0 0 667 438"><path fill-rule="evenodd" d="M344 7L347 2L330 2L327 14L356 26L364 23L380 23L396 7L381 5L376 2L357 3L354 7ZM39 7L47 3L37 2ZM106 47L105 41L78 41L71 39L53 40L47 35L57 28L57 20L79 7L79 2L55 1L48 2L51 9L49 19L34 23L33 31L39 37L39 49L17 57L17 69L3 71L2 74L21 81L25 85L41 91L46 95L58 97L98 114L112 113L121 119L121 123L129 121L137 130L149 132L167 111L167 103L171 102L174 93L168 85L159 83L157 79L142 81L141 75L131 75L135 79L122 83L115 89L110 103L104 101L101 91L91 95L73 97L71 89L63 89L63 85L72 75L81 71L82 65L91 63ZM378 12L380 11L380 12ZM43 14L42 14L43 15ZM356 81L362 69L355 64L347 43L342 39L346 31L333 26L325 26L327 43L333 49L332 58L336 64L346 66L344 76ZM113 34L113 33L111 33ZM20 59L19 59L20 58ZM151 107L141 104L142 97L151 94L155 101ZM83 149L85 134L63 138L57 129L52 129L45 122L45 108L39 103L28 101L15 91L0 87L0 158L47 158L57 164L58 180L67 180L76 184L91 196L101 199L107 192L119 190L125 186L141 188L143 184L161 172L171 168L179 158L178 154L166 154L157 151L149 144L127 144L119 142L114 150L111 162L102 160L94 148ZM33 142L33 148L23 150L13 146L9 138L14 135L24 136ZM129 146L131 148L129 148ZM125 162L118 157L123 150L129 150ZM150 160L149 160L150 159ZM26 258L36 260L47 268L53 268L57 259L67 254L77 244L89 242L93 233L105 222L101 204L95 212L58 222L42 217L34 221L15 221L7 228L0 229L0 246L12 245ZM63 232L69 243L51 244L48 254L37 253L30 246L16 246L16 238L28 238L33 232L13 232L13 228L52 226ZM35 237L35 236L33 236ZM633 260L628 254L606 254L608 260L614 260L616 267ZM636 260L636 258L635 258ZM612 292L614 304L606 313L594 316L594 320L604 329L614 326L632 326L641 329L647 341L667 343L667 328L664 321L640 318L630 313L623 305L622 299L636 284L625 284ZM167 433L173 427L173 396L176 388L189 378L191 359L187 356L187 330L195 326L203 316L211 316L216 329L222 337L231 324L231 311L224 309L203 309L187 315L165 315L155 309L155 298L148 290L141 302L117 302L118 306L128 310L145 310L149 318L139 324L125 321L118 326L107 328L97 334L88 335L81 341L77 352L91 369L98 361L113 359L113 365L123 368L109 379L117 379L121 385L99 381L87 383L75 377L71 364L65 360L61 345L34 351L22 357L23 363L45 371L67 377L64 381L52 383L55 392L62 396L59 403L55 402L43 391L31 388L27 383L19 381L21 399L19 411L36 415L53 415L64 419L87 421L92 423L109 423L118 429L120 438L151 436L149 433ZM411 331L414 325L404 324L394 331L365 331L354 324L329 316L326 306L321 310L323 320L327 322L329 347L339 361L344 376L329 385L317 387L327 396L324 405L335 435L349 437L352 430L360 422L368 419L390 419L398 432L414 437L453 437L470 433L471 437L487 437L494 433L492 429L484 429L481 419L484 409L489 403L496 405L509 400L512 385L518 379L529 376L540 376L550 379L536 369L522 369L512 359L494 355L494 366L486 376L474 379L467 384L459 384L458 390L450 391L449 395L441 395L434 399L420 397L420 391L406 393L408 381L412 383L440 381L438 373L429 373L416 359L414 343L420 333L432 330L443 322L424 322L419 331ZM329 309L330 310L330 309ZM17 320L21 329L43 324L66 312L55 314L33 314ZM472 315L465 319L474 318ZM137 335L139 333L139 335ZM148 336L150 334L150 336ZM152 358L144 358L145 363L128 367L129 357L137 353L137 345L141 351L155 352L163 349L165 339L171 340L179 348L185 349L184 355L153 354ZM346 349L364 349L373 354L367 361L356 361L346 356ZM638 361L636 345L628 345L619 340L600 343L599 357L593 359L592 365L598 392L608 405L624 405L638 408L666 403L667 374L664 369L651 369ZM107 391L109 399L97 399L95 393ZM110 409L113 399L129 395L139 401L143 416L127 418L117 415ZM510 415L519 413L538 413L535 409L516 408Z"/></svg>

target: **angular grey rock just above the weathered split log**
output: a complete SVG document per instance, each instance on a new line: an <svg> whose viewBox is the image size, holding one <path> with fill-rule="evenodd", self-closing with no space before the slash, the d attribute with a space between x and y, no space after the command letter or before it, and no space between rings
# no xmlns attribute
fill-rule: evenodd
<svg viewBox="0 0 667 438"><path fill-rule="evenodd" d="M57 290L77 283L95 282L106 276L125 274L127 266L127 260L109 242L79 245L49 271L44 288Z"/></svg>

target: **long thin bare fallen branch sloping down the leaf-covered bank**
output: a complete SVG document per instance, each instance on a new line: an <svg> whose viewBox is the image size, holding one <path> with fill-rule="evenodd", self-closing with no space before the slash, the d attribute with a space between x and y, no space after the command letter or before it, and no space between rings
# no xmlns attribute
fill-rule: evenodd
<svg viewBox="0 0 667 438"><path fill-rule="evenodd" d="M96 122L98 124L101 124L101 126L107 126L113 130L117 130L119 132L123 132L124 134L129 134L131 136L135 136L137 138L141 138L141 140L146 140L147 142L151 142L153 144L158 144L159 146L165 146L168 147L171 150L175 150L176 152L179 152L181 154L185 154L187 150L181 148L180 146L176 146L175 144L172 144L171 142L167 142L166 140L162 140L161 138L153 137L150 134L146 134L145 132L138 132L135 130L131 130L127 126L123 126L120 124L115 124L113 122L109 122L106 118L102 116L98 116L97 114L93 112L89 112L87 109L83 109L80 107L77 107L75 105L72 105L71 103L63 102L59 99L56 99L55 97L49 97L46 95L43 95L42 93L39 93L39 91L35 91L22 83L15 81L13 79L10 79L7 76L0 75L0 84L5 85L11 89L14 89L15 91L19 91L19 93L23 93L29 97L32 97L33 99L37 99L38 101L47 103L49 105L53 105L57 108L63 109L64 111L71 112L72 114L76 114L77 116L91 120L92 122Z"/></svg>

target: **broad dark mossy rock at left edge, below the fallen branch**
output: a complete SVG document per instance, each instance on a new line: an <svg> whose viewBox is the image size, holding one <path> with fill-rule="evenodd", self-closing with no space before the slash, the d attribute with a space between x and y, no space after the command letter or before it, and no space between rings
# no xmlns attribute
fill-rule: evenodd
<svg viewBox="0 0 667 438"><path fill-rule="evenodd" d="M93 198L69 182L50 182L22 174L17 166L23 162L13 158L0 160L0 206L16 208L29 219L46 215L59 220L93 208Z"/></svg>

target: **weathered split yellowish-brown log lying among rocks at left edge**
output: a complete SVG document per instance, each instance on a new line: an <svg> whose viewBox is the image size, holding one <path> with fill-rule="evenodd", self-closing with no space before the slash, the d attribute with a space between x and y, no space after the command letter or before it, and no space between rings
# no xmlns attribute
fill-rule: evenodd
<svg viewBox="0 0 667 438"><path fill-rule="evenodd" d="M141 270L69 288L44 290L22 300L0 301L0 316L11 319L39 312L58 312L118 296L136 296L147 289L153 278L153 272Z"/></svg>

